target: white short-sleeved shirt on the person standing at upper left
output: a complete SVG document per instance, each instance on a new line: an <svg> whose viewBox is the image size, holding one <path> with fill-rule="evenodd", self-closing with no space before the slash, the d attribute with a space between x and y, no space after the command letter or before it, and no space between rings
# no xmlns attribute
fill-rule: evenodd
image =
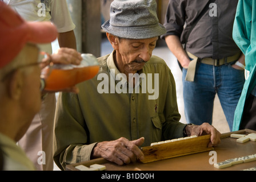
<svg viewBox="0 0 256 182"><path fill-rule="evenodd" d="M3 0L27 21L50 21L59 33L74 30L66 0ZM40 46L42 51L52 53L51 44Z"/></svg>

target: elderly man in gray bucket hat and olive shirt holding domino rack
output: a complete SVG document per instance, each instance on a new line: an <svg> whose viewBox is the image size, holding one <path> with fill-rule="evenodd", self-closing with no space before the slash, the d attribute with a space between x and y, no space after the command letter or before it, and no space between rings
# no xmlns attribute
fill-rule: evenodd
<svg viewBox="0 0 256 182"><path fill-rule="evenodd" d="M62 93L58 99L54 160L61 169L99 157L128 164L144 158L138 146L191 134L209 133L209 146L219 143L213 126L179 122L173 75L152 55L166 32L156 9L154 0L111 3L110 20L102 28L114 51L98 59L101 71L79 84L78 94Z"/></svg>

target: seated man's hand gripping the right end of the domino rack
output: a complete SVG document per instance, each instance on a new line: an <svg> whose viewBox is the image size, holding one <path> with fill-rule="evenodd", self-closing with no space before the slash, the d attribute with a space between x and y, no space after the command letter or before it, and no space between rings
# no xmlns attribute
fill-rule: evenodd
<svg viewBox="0 0 256 182"><path fill-rule="evenodd" d="M200 126L188 125L186 127L186 133L189 136L211 134L211 142L208 144L208 147L217 146L219 143L221 143L221 133L219 133L219 131L209 123L203 123Z"/></svg>

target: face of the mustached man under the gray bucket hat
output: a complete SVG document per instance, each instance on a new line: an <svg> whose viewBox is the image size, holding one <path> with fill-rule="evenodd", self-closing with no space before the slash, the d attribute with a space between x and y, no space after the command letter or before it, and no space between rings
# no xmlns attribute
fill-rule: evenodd
<svg viewBox="0 0 256 182"><path fill-rule="evenodd" d="M158 37L149 39L119 39L117 49L119 55L117 56L121 56L121 64L125 71L133 73L141 70L145 63L150 60L157 40Z"/></svg>

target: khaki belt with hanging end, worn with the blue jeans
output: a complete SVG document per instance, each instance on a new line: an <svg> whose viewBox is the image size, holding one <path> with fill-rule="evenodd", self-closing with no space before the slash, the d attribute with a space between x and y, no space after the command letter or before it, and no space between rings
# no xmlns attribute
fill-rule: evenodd
<svg viewBox="0 0 256 182"><path fill-rule="evenodd" d="M187 52L187 55L193 60L191 60L189 63L189 68L187 68L187 75L186 75L185 80L186 81L194 81L195 69L197 67L197 61L200 61L200 63L203 63L203 64L209 64L209 65L214 65L214 66L218 67L223 64L231 63L233 61L238 60L239 57L241 56L241 52L235 54L234 56L225 57L223 59L212 59L210 57L199 59L197 56L191 54L190 52Z"/></svg>

